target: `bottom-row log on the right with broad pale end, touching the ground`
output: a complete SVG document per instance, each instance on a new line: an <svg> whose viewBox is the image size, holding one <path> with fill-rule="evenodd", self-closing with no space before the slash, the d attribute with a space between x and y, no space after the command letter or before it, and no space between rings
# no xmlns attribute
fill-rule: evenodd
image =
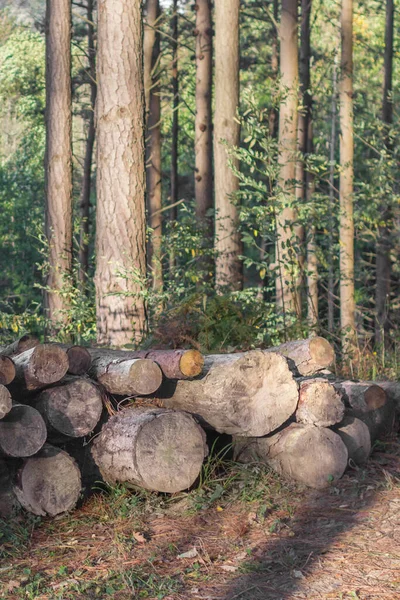
<svg viewBox="0 0 400 600"><path fill-rule="evenodd" d="M272 436L235 438L234 458L245 463L264 462L288 479L322 489L343 475L348 453L334 431L292 423Z"/></svg>

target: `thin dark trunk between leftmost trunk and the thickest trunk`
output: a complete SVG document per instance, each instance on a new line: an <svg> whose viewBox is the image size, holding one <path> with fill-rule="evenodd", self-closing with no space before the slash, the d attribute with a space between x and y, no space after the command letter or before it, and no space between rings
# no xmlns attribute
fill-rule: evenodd
<svg viewBox="0 0 400 600"><path fill-rule="evenodd" d="M83 163L82 190L80 197L80 231L79 231L79 281L84 284L89 269L89 209L90 190L92 183L92 161L95 140L94 111L96 104L96 50L94 46L94 23L93 8L94 0L87 0L86 18L88 45L87 53L89 60L89 85L90 85L90 108L88 120L88 132L86 139L86 151Z"/></svg>

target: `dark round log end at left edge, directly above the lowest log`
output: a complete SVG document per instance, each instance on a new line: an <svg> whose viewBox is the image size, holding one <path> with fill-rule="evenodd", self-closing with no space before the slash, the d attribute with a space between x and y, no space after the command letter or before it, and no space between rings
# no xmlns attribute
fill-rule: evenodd
<svg viewBox="0 0 400 600"><path fill-rule="evenodd" d="M9 457L32 456L46 441L41 414L32 406L14 404L0 421L0 452Z"/></svg>

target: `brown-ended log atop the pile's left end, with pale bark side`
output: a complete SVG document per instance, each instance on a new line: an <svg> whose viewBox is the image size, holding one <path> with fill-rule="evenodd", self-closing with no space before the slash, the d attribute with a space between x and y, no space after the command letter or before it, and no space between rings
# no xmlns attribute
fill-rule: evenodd
<svg viewBox="0 0 400 600"><path fill-rule="evenodd" d="M14 357L16 376L12 389L40 390L60 381L68 370L68 357L55 344L39 344Z"/></svg>

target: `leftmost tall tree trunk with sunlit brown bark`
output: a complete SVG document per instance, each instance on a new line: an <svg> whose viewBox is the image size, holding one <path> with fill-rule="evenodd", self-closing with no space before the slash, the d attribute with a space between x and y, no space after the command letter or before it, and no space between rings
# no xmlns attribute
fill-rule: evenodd
<svg viewBox="0 0 400 600"><path fill-rule="evenodd" d="M52 325L68 319L60 292L72 267L71 3L46 3L46 235L49 274L46 307Z"/></svg>

